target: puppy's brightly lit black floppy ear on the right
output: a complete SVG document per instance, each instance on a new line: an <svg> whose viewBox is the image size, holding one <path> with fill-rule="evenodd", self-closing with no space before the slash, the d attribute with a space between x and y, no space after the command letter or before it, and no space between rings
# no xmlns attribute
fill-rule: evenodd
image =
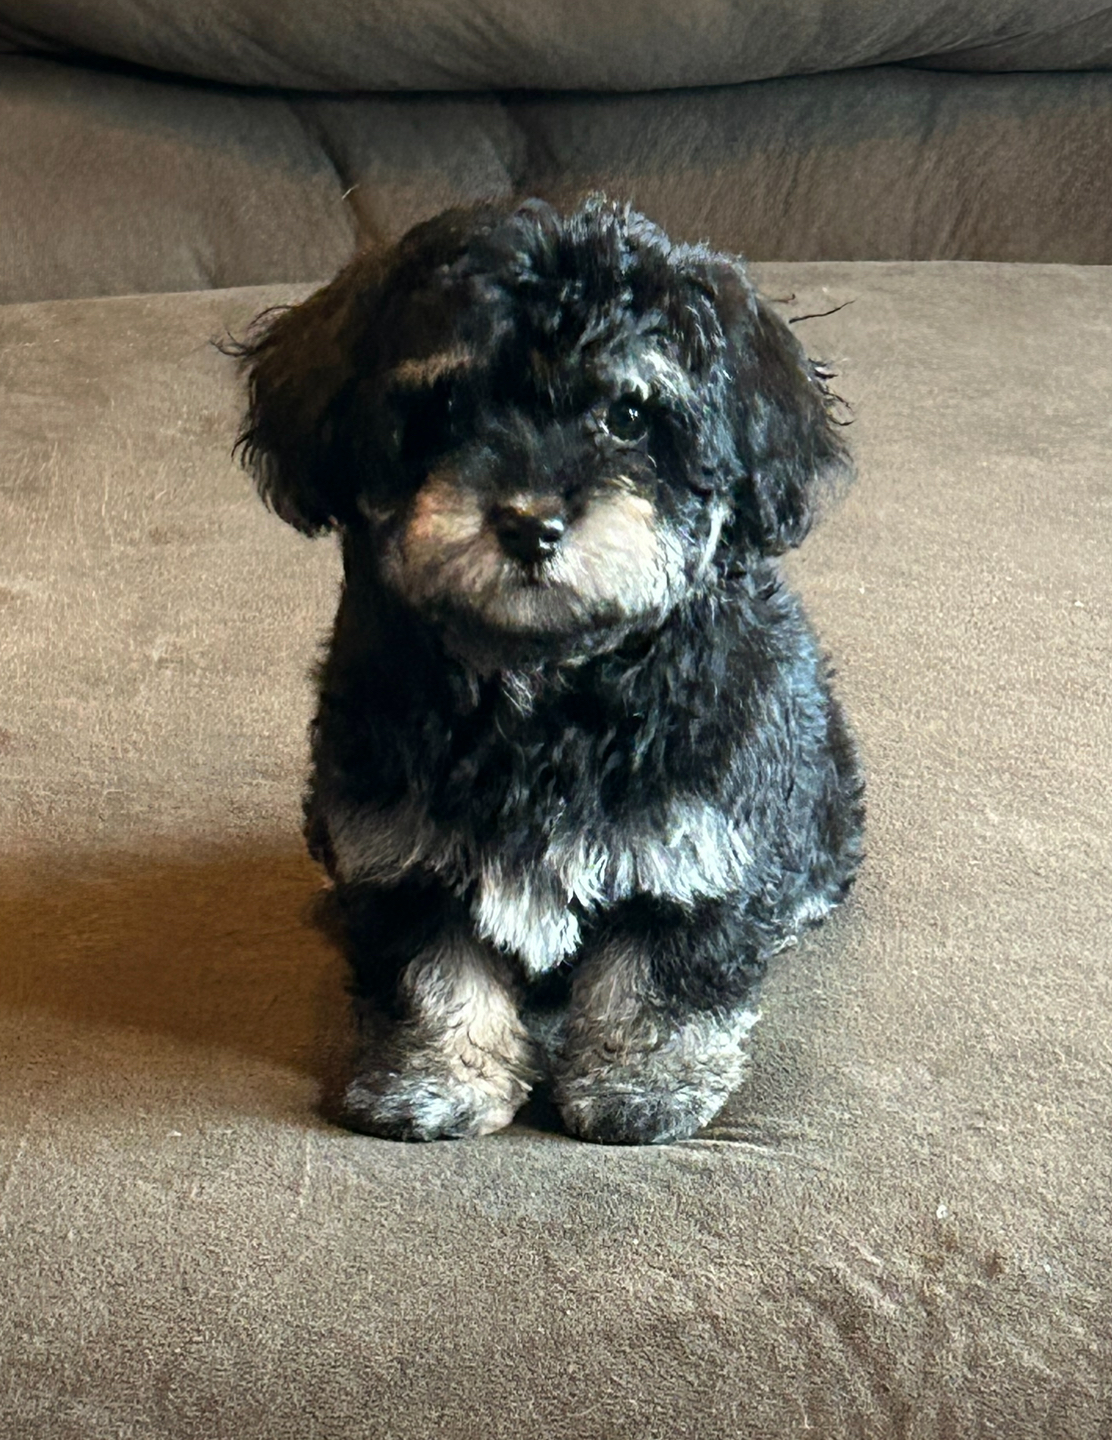
<svg viewBox="0 0 1112 1440"><path fill-rule="evenodd" d="M740 262L717 259L703 284L726 341L742 468L730 533L737 544L781 554L810 530L824 485L851 472L830 372L808 359Z"/></svg>

